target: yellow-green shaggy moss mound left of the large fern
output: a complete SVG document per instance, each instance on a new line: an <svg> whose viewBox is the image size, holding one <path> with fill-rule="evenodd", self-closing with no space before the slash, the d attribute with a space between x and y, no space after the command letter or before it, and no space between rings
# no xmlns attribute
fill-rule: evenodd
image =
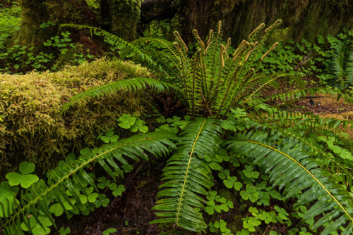
<svg viewBox="0 0 353 235"><path fill-rule="evenodd" d="M0 173L23 160L42 170L52 167L60 156L93 146L97 134L117 127L121 113L142 114L150 106L143 91L88 99L64 115L61 106L90 87L148 75L146 68L131 62L104 60L61 72L0 75Z"/></svg>

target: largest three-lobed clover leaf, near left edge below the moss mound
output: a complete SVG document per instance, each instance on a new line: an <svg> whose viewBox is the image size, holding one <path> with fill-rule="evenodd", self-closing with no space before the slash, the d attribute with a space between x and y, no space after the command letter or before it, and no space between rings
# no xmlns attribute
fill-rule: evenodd
<svg viewBox="0 0 353 235"><path fill-rule="evenodd" d="M6 179L8 179L8 184L11 186L20 184L21 187L26 189L39 180L37 175L30 174L34 171L35 165L33 163L23 162L20 163L20 172L22 174L18 174L17 172L10 172L6 174Z"/></svg>

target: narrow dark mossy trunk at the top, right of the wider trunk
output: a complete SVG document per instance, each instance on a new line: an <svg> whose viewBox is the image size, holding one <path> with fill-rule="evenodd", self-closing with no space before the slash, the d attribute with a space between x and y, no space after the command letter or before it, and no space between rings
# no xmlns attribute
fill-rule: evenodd
<svg viewBox="0 0 353 235"><path fill-rule="evenodd" d="M128 41L136 39L140 0L109 0L110 31Z"/></svg>

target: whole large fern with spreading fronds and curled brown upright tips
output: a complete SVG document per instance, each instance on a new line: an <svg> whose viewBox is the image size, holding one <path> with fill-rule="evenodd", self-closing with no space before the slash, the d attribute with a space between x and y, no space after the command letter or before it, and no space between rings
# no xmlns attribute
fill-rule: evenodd
<svg viewBox="0 0 353 235"><path fill-rule="evenodd" d="M57 203L67 215L82 212L84 203L81 198L89 196L85 185L97 189L94 177L88 172L91 163L98 163L115 179L116 174L124 177L121 165L127 163L126 158L148 160L146 153L167 155L174 148L175 152L163 169L163 184L157 193L160 200L152 208L160 211L156 213L159 219L152 223L173 225L176 232L177 228L205 231L203 198L208 196L208 190L214 183L212 171L204 158L213 158L220 148L227 148L232 153L231 158L245 156L249 163L261 167L263 174L270 176L270 181L282 190L286 199L297 198L298 206L310 205L304 220L314 217L316 223L313 228L329 223L323 234L337 231L339 227L345 228L344 234L352 234L353 197L349 192L352 189L352 163L331 157L327 153L327 145L321 146L311 138L311 134L316 134L342 139L345 134L338 127L347 125L348 121L325 120L315 115L275 108L256 108L265 101L284 101L315 91L299 87L299 90L289 94L265 97L263 91L268 87L279 87L282 78L301 84L297 77L283 74L266 77L253 69L260 62L256 61L259 58L256 54L261 51L259 47L263 46L269 32L279 23L276 21L264 33L261 33L264 27L261 24L251 32L249 42L241 42L232 58L227 51L230 40L227 44L221 42L221 23L215 32L210 30L207 42L201 40L196 30L193 31L196 53L191 57L177 32L177 42L174 44L161 39L138 39L131 44L95 27L62 25L101 32L106 39L121 47L121 54L130 54L131 58L145 63L152 72L163 76L164 81L174 82L168 84L149 78L133 78L104 84L73 96L63 110L88 97L106 95L117 89L131 91L149 87L164 91L171 88L184 96L193 117L213 118L191 120L179 136L169 132L133 136L116 144L95 148L77 160L56 167L48 172L47 184L40 180L27 191L22 191L17 197L19 201L14 200L14 196L11 202L0 203L1 211L6 214L4 220L0 220L5 234L23 234L21 224L31 231L29 217L33 217L41 227L44 227L40 220L43 216L54 224L49 208L51 203ZM146 43L151 51L139 48ZM275 46L277 43L270 50ZM239 115L234 111L239 107L248 108L248 113L243 110L243 114ZM227 120L217 119L227 116ZM225 139L221 139L221 132ZM352 144L352 140L347 143Z"/></svg>

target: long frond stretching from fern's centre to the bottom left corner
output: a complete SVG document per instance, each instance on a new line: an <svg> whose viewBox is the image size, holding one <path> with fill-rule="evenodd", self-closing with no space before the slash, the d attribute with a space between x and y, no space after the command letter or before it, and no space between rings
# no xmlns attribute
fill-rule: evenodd
<svg viewBox="0 0 353 235"><path fill-rule="evenodd" d="M83 195L88 194L82 185L89 184L97 189L92 175L87 172L91 163L99 163L115 180L116 176L113 170L124 177L119 165L127 163L126 157L133 160L140 158L148 160L146 153L152 153L156 156L167 155L169 153L167 146L175 147L174 143L170 141L174 138L176 138L175 134L162 131L138 134L116 143L95 148L90 153L80 155L77 160L69 161L54 170L50 170L47 174L48 184L40 180L32 184L30 190L21 192L20 204L16 203L16 200L13 200L11 205L8 202L8 208L13 208L13 210L8 213L8 217L5 217L4 221L1 221L1 227L4 227L6 235L12 235L11 231L16 231L15 234L23 234L21 224L22 222L30 224L30 217L35 217L37 223L40 224L37 215L39 210L54 224L54 219L49 212L49 205L52 202L59 203L63 210L79 212L80 205L83 204ZM67 191L70 192L70 197ZM87 200L88 198L85 197L86 202ZM66 206L64 203L66 203ZM0 203L0 205L4 208L3 204ZM68 205L71 209L68 209Z"/></svg>

